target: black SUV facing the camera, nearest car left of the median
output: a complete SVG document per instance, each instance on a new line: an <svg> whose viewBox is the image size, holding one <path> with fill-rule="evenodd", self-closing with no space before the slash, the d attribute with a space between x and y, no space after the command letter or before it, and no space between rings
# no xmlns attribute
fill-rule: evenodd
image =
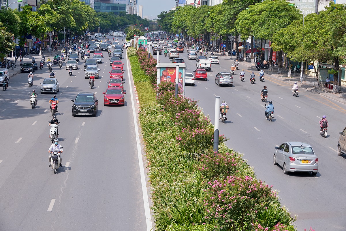
<svg viewBox="0 0 346 231"><path fill-rule="evenodd" d="M72 116L76 115L93 115L97 114L98 99L94 92L79 92L75 99L71 99Z"/></svg>

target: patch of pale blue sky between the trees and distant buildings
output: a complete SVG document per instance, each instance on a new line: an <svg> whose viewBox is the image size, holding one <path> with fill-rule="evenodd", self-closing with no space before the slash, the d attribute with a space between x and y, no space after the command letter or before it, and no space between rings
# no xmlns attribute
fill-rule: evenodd
<svg viewBox="0 0 346 231"><path fill-rule="evenodd" d="M149 16L149 19L157 18L162 11L171 10L176 5L175 0L138 0L137 5L143 6L143 16Z"/></svg>

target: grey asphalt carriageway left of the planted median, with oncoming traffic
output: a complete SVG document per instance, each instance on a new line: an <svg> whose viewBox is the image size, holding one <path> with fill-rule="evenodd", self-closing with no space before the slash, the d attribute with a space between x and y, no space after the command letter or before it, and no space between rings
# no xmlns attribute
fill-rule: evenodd
<svg viewBox="0 0 346 231"><path fill-rule="evenodd" d="M32 87L27 73L17 74L0 93L0 230L147 230L127 61L123 59L126 104L106 107L102 92L111 67L104 55L102 77L92 90L99 99L97 117L72 117L71 99L79 91L91 91L83 62L71 77L54 65L64 147L64 167L56 175L48 167L48 100L53 95L39 94L40 82L49 75L46 65L34 72ZM31 109L28 94L33 89L38 104Z"/></svg>

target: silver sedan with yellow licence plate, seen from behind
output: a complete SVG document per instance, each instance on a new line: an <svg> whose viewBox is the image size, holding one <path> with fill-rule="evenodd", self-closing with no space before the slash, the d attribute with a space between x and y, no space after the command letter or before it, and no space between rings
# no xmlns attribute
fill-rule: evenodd
<svg viewBox="0 0 346 231"><path fill-rule="evenodd" d="M310 144L303 142L285 142L275 147L274 165L280 165L283 173L289 172L318 172L318 158Z"/></svg>

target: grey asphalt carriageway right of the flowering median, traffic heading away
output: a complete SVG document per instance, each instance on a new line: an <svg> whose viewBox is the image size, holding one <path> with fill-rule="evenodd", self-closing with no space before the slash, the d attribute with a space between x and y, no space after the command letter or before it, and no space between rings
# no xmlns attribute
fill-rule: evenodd
<svg viewBox="0 0 346 231"><path fill-rule="evenodd" d="M188 60L186 51L179 57L185 60L186 72L193 73L196 61ZM230 148L244 153L244 158L260 179L280 191L281 203L292 215L298 215L295 223L298 230L310 229L310 226L316 230L346 230L346 199L343 195L346 155L339 157L336 152L339 132L345 127L345 105L303 88L299 89L299 97L293 97L293 82L271 76L266 70L265 81L260 82L259 72L243 62L235 72L234 86L218 87L215 74L229 71L235 61L230 56L219 56L219 59L219 65L212 64L208 81L198 80L194 87L186 86L186 96L199 100L198 105L210 115L212 123L215 96L228 103L228 120L225 124L219 121L220 134L229 138L227 145ZM164 55L160 55L159 60L170 62ZM242 69L246 73L244 82L239 80ZM256 74L255 84L249 81L252 71ZM268 89L268 100L272 100L275 107L272 122L264 117L265 103L260 96L264 85ZM319 135L318 121L322 115L326 115L329 122L327 139ZM273 165L274 147L285 141L303 141L312 145L319 159L316 176L309 173L284 175L281 167Z"/></svg>

